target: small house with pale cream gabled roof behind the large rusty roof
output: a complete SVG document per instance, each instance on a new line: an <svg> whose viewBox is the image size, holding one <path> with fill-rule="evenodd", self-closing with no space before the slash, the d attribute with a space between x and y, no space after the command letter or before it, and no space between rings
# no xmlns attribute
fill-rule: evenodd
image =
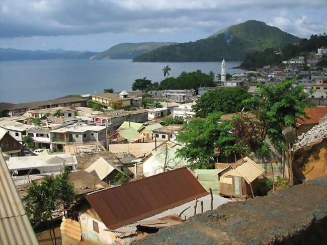
<svg viewBox="0 0 327 245"><path fill-rule="evenodd" d="M121 174L129 178L129 176L115 164L103 157L100 157L98 160L93 162L93 164L89 168L85 169L85 171L93 174L106 183L110 183L110 185L115 185L115 177L117 174Z"/></svg>

